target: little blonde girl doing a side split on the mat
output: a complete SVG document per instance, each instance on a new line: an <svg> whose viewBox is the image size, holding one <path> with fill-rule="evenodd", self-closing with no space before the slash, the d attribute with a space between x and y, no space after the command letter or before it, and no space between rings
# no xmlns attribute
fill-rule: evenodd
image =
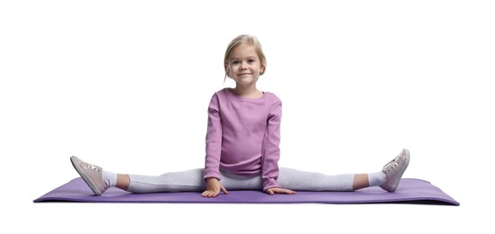
<svg viewBox="0 0 495 234"><path fill-rule="evenodd" d="M225 78L235 81L211 98L208 106L205 168L170 172L159 176L115 174L70 157L78 174L96 195L108 187L132 193L203 192L215 197L231 190L262 190L268 194L295 191L353 191L380 186L397 189L408 167L403 149L382 170L369 174L324 175L279 168L281 101L256 87L267 61L260 41L240 35L225 51Z"/></svg>

